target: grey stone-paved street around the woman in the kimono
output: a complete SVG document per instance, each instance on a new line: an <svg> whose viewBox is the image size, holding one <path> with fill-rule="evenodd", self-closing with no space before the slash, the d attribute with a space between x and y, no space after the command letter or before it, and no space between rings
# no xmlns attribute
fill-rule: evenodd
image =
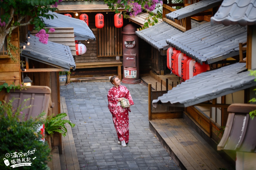
<svg viewBox="0 0 256 170"><path fill-rule="evenodd" d="M180 169L149 129L148 88L144 83L123 84L133 98L129 112L127 147L117 143L112 115L107 107L110 82L72 82L60 86L65 97L81 170Z"/></svg>

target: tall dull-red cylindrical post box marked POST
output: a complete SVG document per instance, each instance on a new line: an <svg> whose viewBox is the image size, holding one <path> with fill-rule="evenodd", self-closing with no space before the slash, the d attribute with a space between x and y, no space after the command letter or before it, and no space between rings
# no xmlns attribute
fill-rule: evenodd
<svg viewBox="0 0 256 170"><path fill-rule="evenodd" d="M132 24L123 28L123 83L140 83L139 74L139 46L138 37L135 34L137 30Z"/></svg>

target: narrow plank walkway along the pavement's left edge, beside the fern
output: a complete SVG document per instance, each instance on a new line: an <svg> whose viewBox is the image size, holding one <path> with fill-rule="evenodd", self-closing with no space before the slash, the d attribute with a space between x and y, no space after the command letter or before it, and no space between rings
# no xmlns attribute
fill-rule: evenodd
<svg viewBox="0 0 256 170"><path fill-rule="evenodd" d="M65 97L60 98L60 103L61 113L67 113L65 119L69 120ZM62 136L62 154L59 154L58 147L53 147L52 149L52 161L48 163L51 170L80 169L72 130L70 125L67 123L66 127L68 132L65 137Z"/></svg>

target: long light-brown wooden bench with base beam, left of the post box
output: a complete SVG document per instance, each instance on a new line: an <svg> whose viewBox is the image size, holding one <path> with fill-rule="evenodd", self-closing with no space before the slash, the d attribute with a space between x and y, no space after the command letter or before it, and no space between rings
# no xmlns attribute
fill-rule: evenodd
<svg viewBox="0 0 256 170"><path fill-rule="evenodd" d="M77 62L76 69L84 68L101 68L101 67L117 67L118 77L121 79L121 66L122 62L116 61L102 61L102 62ZM107 76L104 77L81 77L81 78L70 78L70 75L67 77L68 83L70 81L79 81L79 80L95 80L95 79L108 79Z"/></svg>

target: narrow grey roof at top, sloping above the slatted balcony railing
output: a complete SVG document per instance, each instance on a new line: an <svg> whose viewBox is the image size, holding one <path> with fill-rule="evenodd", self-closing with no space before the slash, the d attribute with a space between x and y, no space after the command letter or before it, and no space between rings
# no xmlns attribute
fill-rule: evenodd
<svg viewBox="0 0 256 170"><path fill-rule="evenodd" d="M205 11L207 9L219 6L222 0L203 0L199 1L195 4L188 5L184 8L173 11L169 14L166 14L165 17L167 19L175 21L175 19L182 19L193 14L197 14L199 12Z"/></svg>

